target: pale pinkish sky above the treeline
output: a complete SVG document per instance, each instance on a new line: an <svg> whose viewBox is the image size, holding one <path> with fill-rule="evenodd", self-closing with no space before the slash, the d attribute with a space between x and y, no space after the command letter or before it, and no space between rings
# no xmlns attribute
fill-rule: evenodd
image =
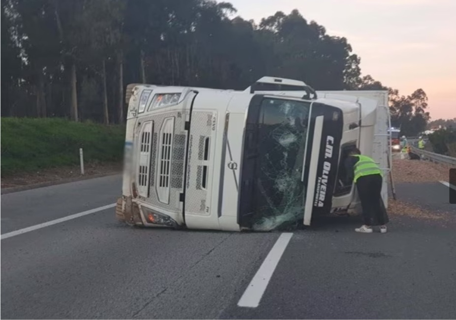
<svg viewBox="0 0 456 320"><path fill-rule="evenodd" d="M432 119L456 117L456 0L225 0L245 20L298 9L344 36L363 75L409 95L425 90Z"/></svg>

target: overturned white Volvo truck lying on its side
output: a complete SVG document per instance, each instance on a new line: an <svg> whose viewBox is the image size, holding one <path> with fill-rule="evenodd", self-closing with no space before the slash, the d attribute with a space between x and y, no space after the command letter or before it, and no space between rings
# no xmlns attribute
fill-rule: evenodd
<svg viewBox="0 0 456 320"><path fill-rule="evenodd" d="M352 146L383 169L388 205L387 91L315 92L275 77L244 91L132 87L116 207L130 225L269 231L357 211L343 167Z"/></svg>

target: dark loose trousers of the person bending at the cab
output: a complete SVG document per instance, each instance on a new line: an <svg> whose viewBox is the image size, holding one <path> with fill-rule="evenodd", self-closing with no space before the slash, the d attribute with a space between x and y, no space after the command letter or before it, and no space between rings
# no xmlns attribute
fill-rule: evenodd
<svg viewBox="0 0 456 320"><path fill-rule="evenodd" d="M356 187L363 208L364 224L367 226L387 224L389 218L381 196L382 176L361 176L356 181Z"/></svg>

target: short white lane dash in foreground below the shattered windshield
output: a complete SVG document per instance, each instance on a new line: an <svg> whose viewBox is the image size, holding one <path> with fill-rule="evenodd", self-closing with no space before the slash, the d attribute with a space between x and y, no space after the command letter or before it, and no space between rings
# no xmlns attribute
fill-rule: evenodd
<svg viewBox="0 0 456 320"><path fill-rule="evenodd" d="M238 302L240 307L256 308L260 304L261 297L268 287L269 281L273 276L275 267L280 261L288 242L293 233L282 233L275 242L265 261L261 264L252 281L245 289L244 294Z"/></svg>

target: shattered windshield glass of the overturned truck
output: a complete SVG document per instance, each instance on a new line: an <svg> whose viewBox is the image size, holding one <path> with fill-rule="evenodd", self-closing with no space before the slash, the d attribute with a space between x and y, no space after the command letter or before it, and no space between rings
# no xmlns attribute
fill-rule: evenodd
<svg viewBox="0 0 456 320"><path fill-rule="evenodd" d="M261 103L252 144L256 151L250 199L254 230L273 230L303 218L309 113L310 102L265 98Z"/></svg>

